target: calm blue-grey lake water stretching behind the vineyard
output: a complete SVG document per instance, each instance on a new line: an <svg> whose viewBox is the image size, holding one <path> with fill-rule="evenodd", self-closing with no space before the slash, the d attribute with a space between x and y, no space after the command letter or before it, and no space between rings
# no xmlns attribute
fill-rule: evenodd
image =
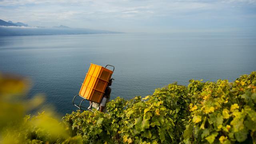
<svg viewBox="0 0 256 144"><path fill-rule="evenodd" d="M235 80L256 70L254 34L101 34L0 37L0 71L28 76L60 114L76 110L90 63L115 66L111 99L190 79ZM87 102L88 104L88 102Z"/></svg>

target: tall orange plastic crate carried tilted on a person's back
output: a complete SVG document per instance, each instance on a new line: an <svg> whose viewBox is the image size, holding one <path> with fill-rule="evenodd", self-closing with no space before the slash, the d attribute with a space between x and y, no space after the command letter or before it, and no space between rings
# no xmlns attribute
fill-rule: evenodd
<svg viewBox="0 0 256 144"><path fill-rule="evenodd" d="M100 103L113 71L91 64L82 83L79 95L92 102Z"/></svg>

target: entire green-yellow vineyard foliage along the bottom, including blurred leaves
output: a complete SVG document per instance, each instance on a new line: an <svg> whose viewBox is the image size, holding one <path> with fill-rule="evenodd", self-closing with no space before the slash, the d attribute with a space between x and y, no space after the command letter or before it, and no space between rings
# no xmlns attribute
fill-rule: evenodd
<svg viewBox="0 0 256 144"><path fill-rule="evenodd" d="M189 82L169 84L145 98L118 97L108 103L108 114L78 110L62 121L47 110L24 117L32 109L27 100L10 102L8 88L2 88L0 143L256 144L256 72L234 82ZM17 93L23 87L21 82ZM40 105L40 98L30 101ZM13 116L10 104L16 104Z"/></svg>

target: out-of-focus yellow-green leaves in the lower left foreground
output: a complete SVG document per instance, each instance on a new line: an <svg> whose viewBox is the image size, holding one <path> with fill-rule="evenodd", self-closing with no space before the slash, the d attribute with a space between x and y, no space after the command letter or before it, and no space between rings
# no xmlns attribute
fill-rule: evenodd
<svg viewBox="0 0 256 144"><path fill-rule="evenodd" d="M25 116L34 109L40 109L44 102L42 95L28 100L29 88L27 78L0 73L0 143L81 143L80 137L70 138L60 118L51 109L37 116Z"/></svg>

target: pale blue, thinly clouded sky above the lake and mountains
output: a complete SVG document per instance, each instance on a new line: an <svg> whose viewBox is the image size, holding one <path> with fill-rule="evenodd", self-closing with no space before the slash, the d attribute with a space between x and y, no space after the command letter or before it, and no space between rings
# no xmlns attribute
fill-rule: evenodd
<svg viewBox="0 0 256 144"><path fill-rule="evenodd" d="M118 32L256 31L256 0L0 0L0 19Z"/></svg>

